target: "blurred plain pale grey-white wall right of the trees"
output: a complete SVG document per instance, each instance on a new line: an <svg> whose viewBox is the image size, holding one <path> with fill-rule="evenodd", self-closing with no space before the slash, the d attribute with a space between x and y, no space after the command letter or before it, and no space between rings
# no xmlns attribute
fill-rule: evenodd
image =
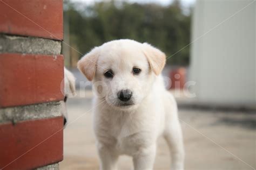
<svg viewBox="0 0 256 170"><path fill-rule="evenodd" d="M253 0L196 2L190 79L199 103L255 107L255 9Z"/></svg>

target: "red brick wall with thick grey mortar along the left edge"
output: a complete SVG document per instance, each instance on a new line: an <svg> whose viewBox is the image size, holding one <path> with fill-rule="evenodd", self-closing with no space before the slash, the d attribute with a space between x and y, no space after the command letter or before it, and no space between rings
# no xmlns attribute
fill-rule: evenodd
<svg viewBox="0 0 256 170"><path fill-rule="evenodd" d="M0 169L63 159L63 2L0 0Z"/></svg>

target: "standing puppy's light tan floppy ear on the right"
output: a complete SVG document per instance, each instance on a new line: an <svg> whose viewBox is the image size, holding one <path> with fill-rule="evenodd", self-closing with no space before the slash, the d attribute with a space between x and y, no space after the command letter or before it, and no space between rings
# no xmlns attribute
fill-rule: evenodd
<svg viewBox="0 0 256 170"><path fill-rule="evenodd" d="M146 42L143 43L143 52L149 61L150 68L156 75L159 75L165 66L165 54Z"/></svg>

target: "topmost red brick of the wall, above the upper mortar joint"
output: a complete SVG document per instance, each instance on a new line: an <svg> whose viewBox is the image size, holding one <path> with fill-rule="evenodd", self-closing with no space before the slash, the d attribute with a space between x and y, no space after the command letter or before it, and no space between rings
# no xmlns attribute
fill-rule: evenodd
<svg viewBox="0 0 256 170"><path fill-rule="evenodd" d="M0 32L63 39L62 0L1 0Z"/></svg>

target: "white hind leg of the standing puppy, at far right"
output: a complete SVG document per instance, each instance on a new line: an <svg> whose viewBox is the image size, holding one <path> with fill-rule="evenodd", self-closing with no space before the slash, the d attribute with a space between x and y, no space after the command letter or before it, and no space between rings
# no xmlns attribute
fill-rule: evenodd
<svg viewBox="0 0 256 170"><path fill-rule="evenodd" d="M171 152L171 170L184 169L183 135L178 118L166 126L164 138Z"/></svg>

